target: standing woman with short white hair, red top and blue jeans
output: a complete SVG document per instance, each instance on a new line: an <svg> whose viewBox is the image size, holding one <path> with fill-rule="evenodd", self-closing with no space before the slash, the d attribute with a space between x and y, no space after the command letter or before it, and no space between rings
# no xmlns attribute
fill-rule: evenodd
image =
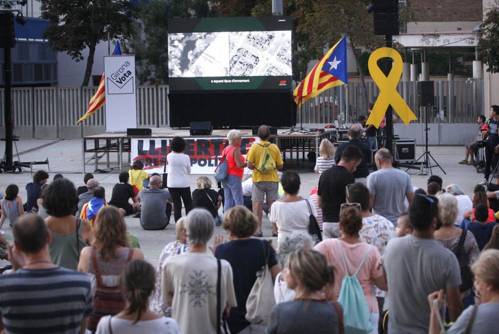
<svg viewBox="0 0 499 334"><path fill-rule="evenodd" d="M222 156L227 156L227 169L229 175L222 181L224 187L225 205L224 212L227 212L235 205L243 205L243 172L247 163L241 154L241 131L231 130L227 134L229 146L224 148Z"/></svg>

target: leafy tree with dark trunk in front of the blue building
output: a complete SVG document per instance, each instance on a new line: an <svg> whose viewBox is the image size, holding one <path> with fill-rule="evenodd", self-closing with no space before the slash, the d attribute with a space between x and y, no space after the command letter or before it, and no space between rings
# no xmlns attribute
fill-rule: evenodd
<svg viewBox="0 0 499 334"><path fill-rule="evenodd" d="M41 0L41 18L50 23L42 35L52 49L65 51L76 61L84 60L82 51L88 47L82 82L82 86L88 86L95 46L108 36L127 36L132 9L128 0Z"/></svg>

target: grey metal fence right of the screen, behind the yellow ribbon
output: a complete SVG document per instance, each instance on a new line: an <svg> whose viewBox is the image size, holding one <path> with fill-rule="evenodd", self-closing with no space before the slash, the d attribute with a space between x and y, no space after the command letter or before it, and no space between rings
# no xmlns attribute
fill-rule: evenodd
<svg viewBox="0 0 499 334"><path fill-rule="evenodd" d="M366 82L367 100L374 102L379 95L379 88L373 81ZM420 115L418 101L418 83L401 81L397 91L411 110ZM434 81L435 106L430 110L430 123L474 123L484 114L484 81ZM451 97L451 98L449 98ZM298 122L342 123L356 122L360 115L367 115L367 105L360 82L351 82L348 86L337 86L303 103L298 112ZM419 121L413 121L418 123Z"/></svg>

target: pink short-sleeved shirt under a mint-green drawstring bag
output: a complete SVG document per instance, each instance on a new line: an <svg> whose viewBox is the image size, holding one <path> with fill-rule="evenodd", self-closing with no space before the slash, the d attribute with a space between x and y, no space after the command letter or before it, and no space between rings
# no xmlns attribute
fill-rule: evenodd
<svg viewBox="0 0 499 334"><path fill-rule="evenodd" d="M369 244L365 242L361 242L358 244L348 244L342 240L339 240L341 243L341 249L343 250L343 255L345 256L345 263L348 269L348 275L353 275L362 261L362 258L367 252L369 248ZM340 250L338 249L338 244L335 239L326 239L314 249L326 256L327 262L330 265L333 265L336 268L336 274L334 277L334 288L333 294L334 298L337 300L340 295L341 289L341 281L345 276L345 269L343 267L343 261L341 261ZM374 298L374 309L373 309L373 295L372 295L372 287L371 279L376 279L383 276L383 269L376 269L379 259L381 255L376 247L371 247L371 251L366 258L366 262L360 268L357 279L359 280L360 286L364 291L364 296L366 296L367 305L369 306L370 312L379 313L378 310L378 302L376 298Z"/></svg>

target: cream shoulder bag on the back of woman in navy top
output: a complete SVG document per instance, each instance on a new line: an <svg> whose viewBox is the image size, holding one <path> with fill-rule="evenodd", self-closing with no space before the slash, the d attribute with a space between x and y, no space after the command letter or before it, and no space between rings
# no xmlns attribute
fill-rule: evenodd
<svg viewBox="0 0 499 334"><path fill-rule="evenodd" d="M256 272L256 281L251 288L250 295L246 301L246 320L252 324L267 325L270 319L270 311L275 306L274 287L272 274L268 268L268 257L270 255L270 244L265 248L262 241L263 256L265 261L261 270Z"/></svg>

